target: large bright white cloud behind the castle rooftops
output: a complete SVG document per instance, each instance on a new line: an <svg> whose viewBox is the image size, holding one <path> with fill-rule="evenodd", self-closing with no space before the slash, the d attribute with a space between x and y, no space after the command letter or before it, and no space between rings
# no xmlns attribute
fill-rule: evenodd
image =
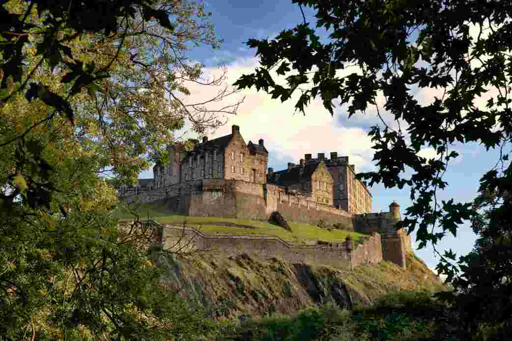
<svg viewBox="0 0 512 341"><path fill-rule="evenodd" d="M227 65L227 84L234 83L242 74L253 73L257 66L257 58L237 59ZM216 68L204 70L206 78L219 74L220 70ZM272 76L277 77L275 74ZM284 79L281 80L284 83ZM189 90L191 96L182 98L185 103L202 102L214 97L219 88L189 84ZM246 98L239 107L238 115L228 116L227 124L212 133L210 139L231 133L231 125L236 124L240 126L246 143L263 139L273 154L272 158L298 162L305 153L315 155L323 152L329 156L331 151L336 151L338 155L348 155L351 163L359 169L370 164L373 152L367 132L360 127L338 125L336 116L331 117L321 100L312 100L306 109L306 116L303 116L294 108L300 96L298 93L284 103L255 88L245 89L241 95ZM223 106L236 99L226 98L214 104Z"/></svg>

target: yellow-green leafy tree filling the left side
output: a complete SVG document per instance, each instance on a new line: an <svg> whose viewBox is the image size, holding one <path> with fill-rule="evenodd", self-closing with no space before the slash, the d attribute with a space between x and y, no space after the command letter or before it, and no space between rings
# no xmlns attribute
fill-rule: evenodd
<svg viewBox="0 0 512 341"><path fill-rule="evenodd" d="M152 230L118 228L101 175L133 182L184 120L198 132L222 124L176 93L202 82L185 44L218 46L207 17L188 1L0 7L0 338L202 332L201 311L157 287Z"/></svg>

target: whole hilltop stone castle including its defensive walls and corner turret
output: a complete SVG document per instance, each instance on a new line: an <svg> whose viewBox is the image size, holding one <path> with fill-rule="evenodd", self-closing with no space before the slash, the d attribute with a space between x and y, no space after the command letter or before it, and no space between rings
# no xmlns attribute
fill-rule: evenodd
<svg viewBox="0 0 512 341"><path fill-rule="evenodd" d="M285 245L282 241L272 243L284 245L281 251L290 260L297 260L296 255L301 254L304 261L317 259L328 262L325 264L338 264L340 259L350 258L350 266L355 266L371 258L406 265L405 255L411 251L411 238L394 228L401 219L398 205L392 203L387 213L369 213L372 196L366 184L355 178L354 165L349 164L347 156L338 157L332 152L330 160L326 160L322 153L318 153L317 158L305 154L298 165L289 163L287 169L276 172L268 168L267 173L268 151L264 141L245 143L236 125L229 135L210 141L204 138L194 144L189 151L182 145L170 146L170 162L154 167L154 179L141 179L135 188L120 187L119 195L127 203L161 202L169 212L189 216L268 220L272 212L278 211L289 221L336 222L378 237L372 237L371 243L358 248L357 257L346 249L334 250L329 246L327 254L342 255L329 256L331 260L325 258L327 246L304 248ZM215 245L225 252L236 239L232 236L203 237L208 243L215 239ZM270 243L268 238L254 238L239 238L236 247L270 252L262 246Z"/></svg>

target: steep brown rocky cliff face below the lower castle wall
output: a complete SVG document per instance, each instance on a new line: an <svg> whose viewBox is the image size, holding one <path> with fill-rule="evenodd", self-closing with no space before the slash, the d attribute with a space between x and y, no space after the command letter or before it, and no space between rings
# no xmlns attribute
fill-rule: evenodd
<svg viewBox="0 0 512 341"><path fill-rule="evenodd" d="M367 306L390 290L446 289L414 255L408 255L407 264L403 269L383 261L351 271L246 254L222 257L198 253L159 260L159 266L166 269L161 279L165 287L200 302L214 319L289 314L329 301L341 307Z"/></svg>

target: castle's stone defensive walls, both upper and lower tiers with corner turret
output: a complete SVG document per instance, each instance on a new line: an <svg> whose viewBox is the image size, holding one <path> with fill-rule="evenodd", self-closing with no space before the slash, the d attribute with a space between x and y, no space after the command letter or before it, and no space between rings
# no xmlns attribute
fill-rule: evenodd
<svg viewBox="0 0 512 341"><path fill-rule="evenodd" d="M290 191L278 185L234 179L187 181L184 184L141 191L137 195L125 196L124 200L130 203L137 198L143 203L164 202L169 212L190 216L267 220L270 213L279 211L290 221L313 224L319 220L340 222L372 238L378 235L379 241L376 243L374 238L361 249L357 246L349 258L345 246L337 248L290 244L269 236L200 235L201 247L217 249L227 255L254 252L261 257L280 256L293 262L345 267L357 266L368 259L384 259L405 267L406 254L412 251L411 236L403 230L395 231L394 224L400 220L400 215L398 206L393 209L393 204L390 212L356 215L314 202L307 193ZM348 265L340 265L344 262L348 262Z"/></svg>

